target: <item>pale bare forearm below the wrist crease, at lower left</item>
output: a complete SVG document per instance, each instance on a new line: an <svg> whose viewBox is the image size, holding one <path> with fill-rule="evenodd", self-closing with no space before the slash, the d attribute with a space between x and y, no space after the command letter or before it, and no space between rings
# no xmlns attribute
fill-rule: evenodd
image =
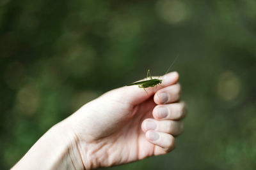
<svg viewBox="0 0 256 170"><path fill-rule="evenodd" d="M63 123L54 125L12 169L84 169L76 142Z"/></svg>

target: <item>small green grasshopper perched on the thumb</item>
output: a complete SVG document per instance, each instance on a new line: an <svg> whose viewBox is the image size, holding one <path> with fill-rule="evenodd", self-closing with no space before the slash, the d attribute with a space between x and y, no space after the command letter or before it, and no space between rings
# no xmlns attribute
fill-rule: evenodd
<svg viewBox="0 0 256 170"><path fill-rule="evenodd" d="M148 74L150 76L150 80L148 80ZM157 85L160 85L161 83L162 83L162 80L159 80L157 78L154 78L154 79L152 78L152 76L150 74L150 70L148 69L148 73L147 73L147 77L146 77L145 81L138 81L135 83L131 83L127 86L138 85L138 87L143 88L145 90L145 92L148 94L148 92L145 88L156 86L156 91L157 91ZM160 86L163 87L162 85L160 85Z"/></svg>

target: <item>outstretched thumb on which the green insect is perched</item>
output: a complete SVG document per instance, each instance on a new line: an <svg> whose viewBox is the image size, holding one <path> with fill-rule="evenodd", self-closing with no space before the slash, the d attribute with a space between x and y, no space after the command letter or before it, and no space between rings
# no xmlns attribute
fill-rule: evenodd
<svg viewBox="0 0 256 170"><path fill-rule="evenodd" d="M177 72L172 72L160 77L159 79L163 80L161 85L163 87L167 87L177 83L179 80L179 74ZM157 86L157 90L162 89L163 87ZM147 93L145 90L147 90ZM111 90L110 92L104 94L104 96L111 94L108 97L113 97L115 100L118 99L120 101L127 101L130 104L140 104L142 101L145 101L156 92L155 87L148 87L145 90L143 88L139 88L138 85L125 86L119 89Z"/></svg>

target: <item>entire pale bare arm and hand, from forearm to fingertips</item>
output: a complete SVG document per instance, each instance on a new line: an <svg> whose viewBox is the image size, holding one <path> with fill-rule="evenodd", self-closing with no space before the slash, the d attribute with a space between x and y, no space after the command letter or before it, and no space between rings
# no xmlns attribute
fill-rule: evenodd
<svg viewBox="0 0 256 170"><path fill-rule="evenodd" d="M12 169L95 169L163 155L184 130L179 74L163 87L111 90L54 125Z"/></svg>

